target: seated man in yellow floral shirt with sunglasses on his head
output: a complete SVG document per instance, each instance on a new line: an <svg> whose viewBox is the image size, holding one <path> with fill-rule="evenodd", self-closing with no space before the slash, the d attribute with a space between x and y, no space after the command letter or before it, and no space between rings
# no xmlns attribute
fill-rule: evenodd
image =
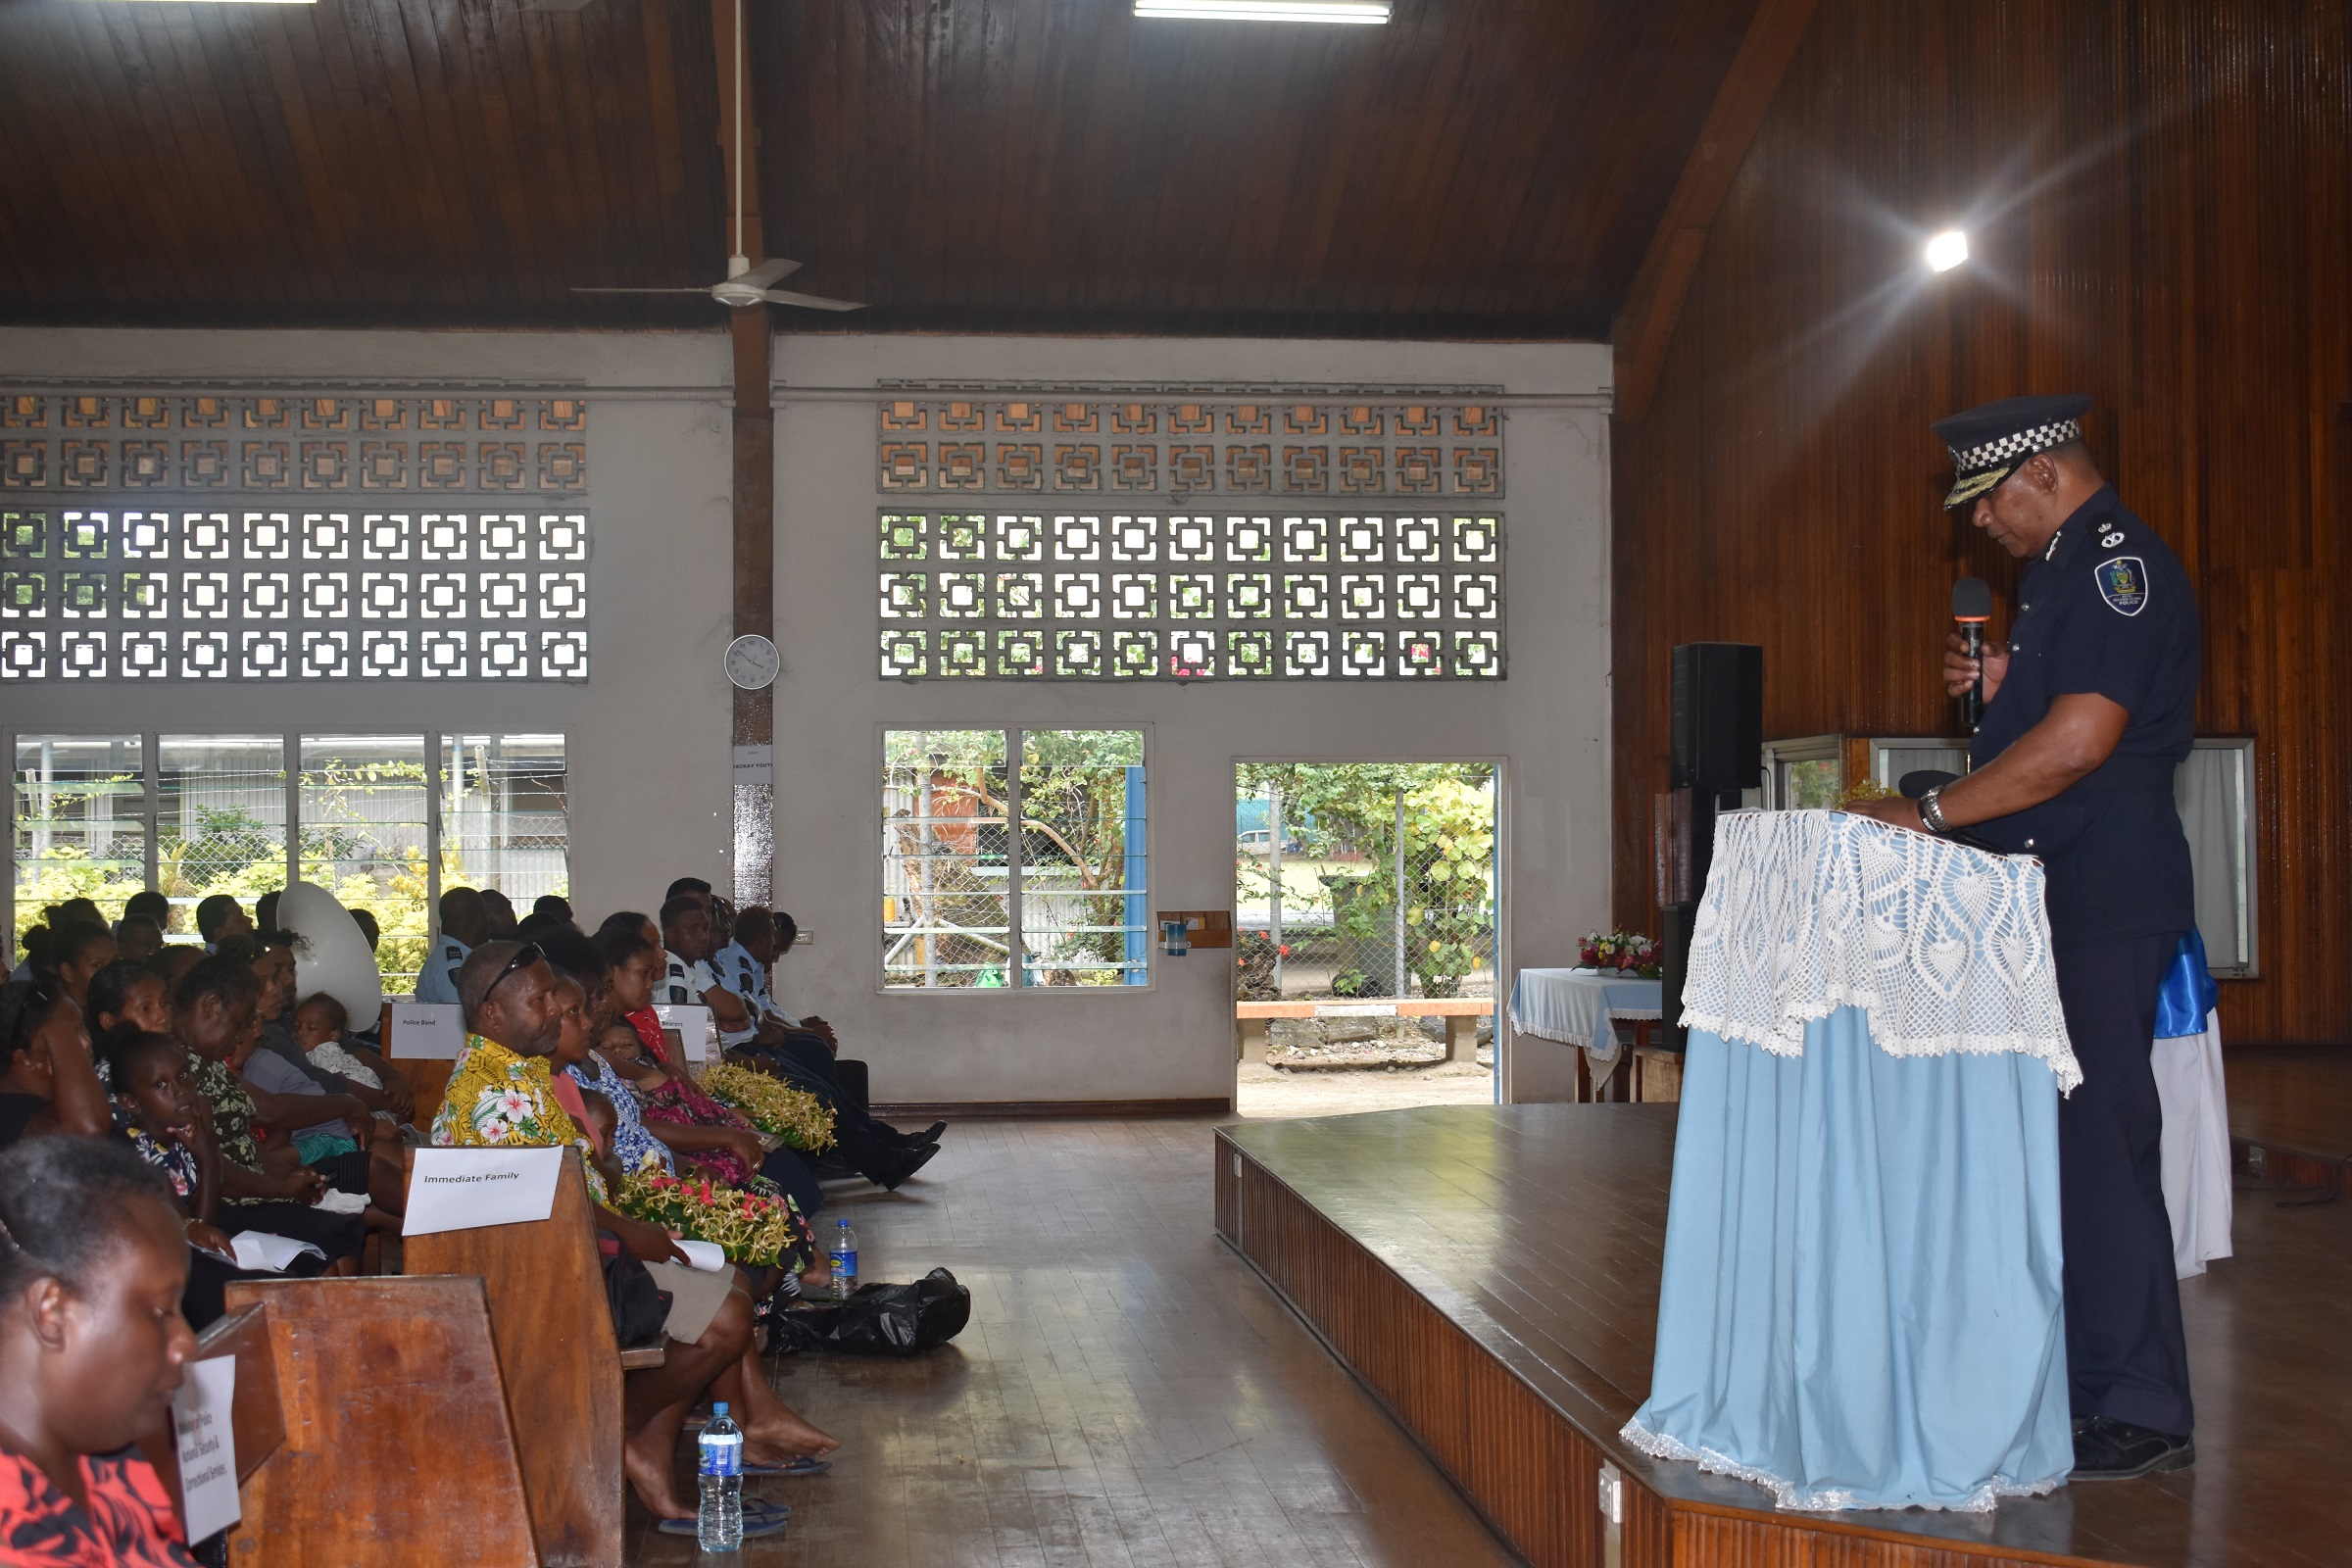
<svg viewBox="0 0 2352 1568"><path fill-rule="evenodd" d="M694 1505L673 1474L677 1432L703 1396L724 1399L743 1420L743 1462L783 1472L793 1460L823 1455L835 1441L793 1415L767 1389L753 1345L750 1288L739 1269L706 1274L687 1267L666 1232L604 1206L595 1145L555 1098L550 1056L562 1044L564 1018L555 971L529 943L485 943L459 969L466 1009L466 1056L449 1072L449 1093L433 1119L433 1143L445 1147L534 1145L574 1147L588 1173L597 1227L644 1262L670 1293L666 1333L670 1356L659 1368L628 1375L621 1467L637 1500L670 1533L694 1533ZM757 1385L757 1389L753 1389ZM743 1535L774 1535L790 1509L743 1500ZM673 1530L682 1523L682 1530Z"/></svg>

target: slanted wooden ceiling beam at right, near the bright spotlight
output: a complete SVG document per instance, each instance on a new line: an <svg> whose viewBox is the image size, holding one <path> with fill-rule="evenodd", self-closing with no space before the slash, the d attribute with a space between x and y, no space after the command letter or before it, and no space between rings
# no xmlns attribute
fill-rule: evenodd
<svg viewBox="0 0 2352 1568"><path fill-rule="evenodd" d="M1715 106L1698 129L1675 195L1665 202L1658 233L1651 235L1642 270L1635 273L1625 294L1625 310L1618 313L1616 331L1616 411L1623 421L1639 421L1649 409L1651 393L1658 390L1658 369L1665 362L1665 346L1675 339L1675 320L1682 315L1682 296L1698 273L1698 259L1708 249L1708 228L1715 223L1731 179L1748 158L1764 110L1771 106L1788 61L1797 54L1806 24L1813 21L1818 0L1759 0L1748 21L1740 52L1731 59L1722 87L1715 89Z"/></svg>

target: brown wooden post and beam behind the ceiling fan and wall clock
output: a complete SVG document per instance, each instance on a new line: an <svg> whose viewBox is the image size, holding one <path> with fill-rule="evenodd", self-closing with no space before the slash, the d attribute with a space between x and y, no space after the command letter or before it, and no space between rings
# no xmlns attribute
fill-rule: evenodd
<svg viewBox="0 0 2352 1568"><path fill-rule="evenodd" d="M760 233L760 132L746 108L743 0L710 0L710 38L720 68L720 148L727 155L727 249L753 266L767 256ZM734 336L734 635L776 637L776 416L769 407L774 331L767 306L731 308ZM734 745L774 748L776 689L734 689ZM769 752L774 757L774 750ZM774 762L769 764L774 766ZM774 783L734 788L736 907L764 905L774 891Z"/></svg>

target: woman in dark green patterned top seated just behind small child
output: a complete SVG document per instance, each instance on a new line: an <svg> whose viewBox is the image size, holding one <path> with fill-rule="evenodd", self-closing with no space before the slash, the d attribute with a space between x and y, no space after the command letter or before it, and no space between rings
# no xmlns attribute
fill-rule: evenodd
<svg viewBox="0 0 2352 1568"><path fill-rule="evenodd" d="M223 957L200 961L172 994L172 1034L188 1046L195 1088L205 1095L221 1150L221 1225L230 1232L261 1229L310 1241L336 1265L334 1272L358 1274L360 1246L367 1241L360 1215L315 1208L327 1178L303 1166L292 1147L261 1152L254 1135L261 1112L228 1067L228 1058L247 1048L254 1034L259 999L254 971ZM296 1110L306 1105L289 1103Z"/></svg>

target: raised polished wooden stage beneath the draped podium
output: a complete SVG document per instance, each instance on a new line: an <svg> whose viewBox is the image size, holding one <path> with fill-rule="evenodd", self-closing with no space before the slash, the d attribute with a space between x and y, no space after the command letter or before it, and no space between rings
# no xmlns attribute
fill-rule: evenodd
<svg viewBox="0 0 2352 1568"><path fill-rule="evenodd" d="M1616 1436L1649 1392L1672 1143L1670 1105L1244 1121L1216 1229L1538 1568L2352 1561L2352 1206L2241 1185L2237 1258L2183 1281L2194 1469L1997 1514L1780 1514Z"/></svg>

